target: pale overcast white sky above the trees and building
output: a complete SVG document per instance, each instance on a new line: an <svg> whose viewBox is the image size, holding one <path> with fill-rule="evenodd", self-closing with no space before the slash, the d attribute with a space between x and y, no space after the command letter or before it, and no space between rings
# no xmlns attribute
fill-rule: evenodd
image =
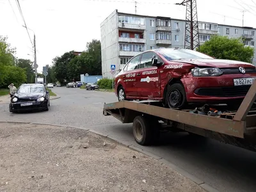
<svg viewBox="0 0 256 192"><path fill-rule="evenodd" d="M137 14L184 19L183 0L137 0ZM197 0L198 20L255 27L256 0ZM0 35L16 47L16 57L34 61L36 36L38 72L52 59L70 50L83 51L92 39L100 40L100 23L116 9L135 13L134 0L0 0ZM29 33L29 35L28 35ZM29 39L30 36L30 39Z"/></svg>

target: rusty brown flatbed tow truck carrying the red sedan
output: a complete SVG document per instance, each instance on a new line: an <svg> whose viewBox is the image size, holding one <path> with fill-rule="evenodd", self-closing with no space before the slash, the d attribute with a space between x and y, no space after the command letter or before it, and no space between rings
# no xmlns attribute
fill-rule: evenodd
<svg viewBox="0 0 256 192"><path fill-rule="evenodd" d="M103 114L131 123L140 145L152 145L159 131L186 131L256 152L256 81L236 111L216 116L164 108L159 101L118 101L104 104ZM193 110L192 110L193 111ZM162 122L162 123L161 123Z"/></svg>

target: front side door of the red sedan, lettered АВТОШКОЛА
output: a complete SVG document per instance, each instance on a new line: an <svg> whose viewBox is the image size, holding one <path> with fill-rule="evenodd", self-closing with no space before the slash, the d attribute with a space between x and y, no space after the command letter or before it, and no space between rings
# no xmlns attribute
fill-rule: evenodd
<svg viewBox="0 0 256 192"><path fill-rule="evenodd" d="M160 98L160 70L152 66L154 52L145 52L141 55L140 80L138 80L138 96L141 98Z"/></svg>

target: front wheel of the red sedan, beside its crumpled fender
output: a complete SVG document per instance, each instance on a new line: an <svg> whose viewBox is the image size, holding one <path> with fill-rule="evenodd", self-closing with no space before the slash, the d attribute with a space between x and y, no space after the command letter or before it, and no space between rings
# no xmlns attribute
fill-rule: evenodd
<svg viewBox="0 0 256 192"><path fill-rule="evenodd" d="M182 84L175 83L167 88L165 103L169 108L186 107L186 92Z"/></svg>

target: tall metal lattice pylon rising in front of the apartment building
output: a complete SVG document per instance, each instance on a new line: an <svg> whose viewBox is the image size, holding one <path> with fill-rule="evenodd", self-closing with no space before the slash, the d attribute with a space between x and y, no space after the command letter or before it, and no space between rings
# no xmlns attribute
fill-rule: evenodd
<svg viewBox="0 0 256 192"><path fill-rule="evenodd" d="M186 29L184 48L195 50L197 47L199 48L200 45L196 0L184 0L182 1L182 3L175 4L186 6Z"/></svg>

